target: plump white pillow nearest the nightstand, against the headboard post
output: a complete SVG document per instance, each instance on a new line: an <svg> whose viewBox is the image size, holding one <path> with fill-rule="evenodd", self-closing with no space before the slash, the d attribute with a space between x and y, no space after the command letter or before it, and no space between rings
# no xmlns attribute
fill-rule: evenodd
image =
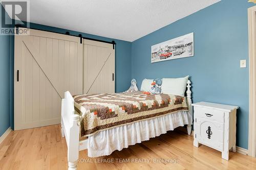
<svg viewBox="0 0 256 170"><path fill-rule="evenodd" d="M165 94L174 94L184 96L186 84L189 76L184 78L163 78L162 92Z"/></svg>

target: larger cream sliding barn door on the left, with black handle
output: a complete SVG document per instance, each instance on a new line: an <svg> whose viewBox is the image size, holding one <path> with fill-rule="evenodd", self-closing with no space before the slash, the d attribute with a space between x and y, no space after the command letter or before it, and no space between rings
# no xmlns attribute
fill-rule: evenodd
<svg viewBox="0 0 256 170"><path fill-rule="evenodd" d="M15 130L60 123L64 92L82 94L82 50L79 37L32 29L15 35Z"/></svg>

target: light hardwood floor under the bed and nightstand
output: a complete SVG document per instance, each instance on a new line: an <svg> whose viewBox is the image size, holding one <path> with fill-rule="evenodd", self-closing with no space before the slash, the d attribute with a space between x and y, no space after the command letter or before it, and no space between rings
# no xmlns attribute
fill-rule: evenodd
<svg viewBox="0 0 256 170"><path fill-rule="evenodd" d="M221 152L204 145L193 147L193 136L175 130L100 157L105 161L114 159L114 163L95 163L94 158L88 159L87 150L80 151L78 169L256 169L256 158L232 152L229 157L226 161L221 158ZM178 159L179 163L153 163L159 158ZM149 160L151 163L119 163L116 159ZM67 167L67 145L65 138L61 138L59 125L12 131L0 144L0 169Z"/></svg>

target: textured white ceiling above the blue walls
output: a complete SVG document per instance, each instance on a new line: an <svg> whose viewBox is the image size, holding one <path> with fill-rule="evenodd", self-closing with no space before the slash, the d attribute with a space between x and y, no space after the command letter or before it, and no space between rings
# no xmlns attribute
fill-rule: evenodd
<svg viewBox="0 0 256 170"><path fill-rule="evenodd" d="M33 0L30 21L134 41L220 0Z"/></svg>

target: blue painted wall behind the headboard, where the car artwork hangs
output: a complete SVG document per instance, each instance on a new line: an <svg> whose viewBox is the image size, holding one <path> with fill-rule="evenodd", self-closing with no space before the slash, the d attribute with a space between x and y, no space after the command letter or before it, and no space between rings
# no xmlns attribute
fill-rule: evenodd
<svg viewBox="0 0 256 170"><path fill-rule="evenodd" d="M132 78L184 77L193 102L237 105L237 145L248 148L247 1L223 0L132 43ZM151 45L194 32L194 57L151 63ZM241 59L247 67L240 68Z"/></svg>

